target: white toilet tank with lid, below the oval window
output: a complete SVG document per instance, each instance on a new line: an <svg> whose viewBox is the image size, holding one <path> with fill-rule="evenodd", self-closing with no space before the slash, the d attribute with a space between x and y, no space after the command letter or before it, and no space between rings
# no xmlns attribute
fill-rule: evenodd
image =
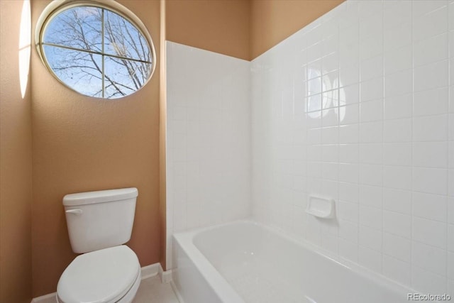
<svg viewBox="0 0 454 303"><path fill-rule="evenodd" d="M74 253L87 253L129 241L133 231L134 187L80 192L63 197Z"/></svg>

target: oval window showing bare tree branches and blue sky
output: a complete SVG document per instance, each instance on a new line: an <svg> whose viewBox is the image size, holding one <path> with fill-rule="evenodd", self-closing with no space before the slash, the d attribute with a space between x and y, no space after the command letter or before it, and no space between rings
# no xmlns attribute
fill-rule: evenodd
<svg viewBox="0 0 454 303"><path fill-rule="evenodd" d="M67 87L91 97L120 98L138 91L153 74L154 48L145 31L111 8L60 6L43 21L38 49Z"/></svg>

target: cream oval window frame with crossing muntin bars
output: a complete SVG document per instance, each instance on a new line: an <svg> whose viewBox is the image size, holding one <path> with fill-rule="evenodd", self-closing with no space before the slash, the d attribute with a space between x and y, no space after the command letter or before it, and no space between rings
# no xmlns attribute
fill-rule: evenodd
<svg viewBox="0 0 454 303"><path fill-rule="evenodd" d="M118 4L118 2L116 2L114 0L104 0L104 1L96 1L96 0L52 1L48 6L46 6L44 11L40 14L40 17L38 18L38 22L36 23L36 28L35 28L35 47L36 47L36 50L38 51L38 55L39 55L41 61L45 65L45 67L49 70L49 72L52 74L52 76L55 77L55 79L58 80L58 82L63 84L65 87L71 89L73 92L77 92L78 94L81 94L82 96L92 97L92 98L96 98L96 99L112 100L112 99L121 99L123 97L128 97L128 96L131 95L131 94L126 94L125 96L121 96L121 97L118 97L118 98L106 98L106 97L104 97L104 91L105 91L105 87L104 87L104 57L106 56L106 57L124 58L126 60L132 60L132 61L136 61L136 62L146 62L146 61L137 60L137 59L130 58L130 57L116 56L116 55L112 55L112 54L109 54L109 53L104 53L104 38L103 38L103 51L101 51L101 52L96 52L96 51L92 51L92 50L81 50L81 49L77 49L77 48L71 48L71 47L68 47L68 46L65 46L65 45L57 45L56 46L56 47L59 47L59 48L65 48L65 49L68 49L68 50L75 50L75 51L79 51L79 52L82 52L82 53L94 53L96 55L101 55L103 57L102 97L89 96L87 94L83 94L82 92L78 92L76 89L70 87L69 84L66 84L65 82L63 82L63 80L60 79L60 77L58 77L55 74L54 70L52 70L52 67L50 67L50 65L48 63L48 60L45 57L45 52L44 52L43 47L45 45L52 46L52 43L44 43L43 42L43 37L44 37L44 34L45 34L45 30L46 30L48 24L52 21L52 18L57 16L59 13L61 13L62 11L65 11L67 9L73 9L73 8L76 8L76 7L79 7L79 6L92 6L92 7L96 7L96 8L99 8L99 9L105 9L105 10L111 11L113 13L116 13L119 16L121 16L122 18L125 18L126 21L130 22L133 26L135 26L135 28L137 28L137 30L143 35L143 38L145 38L146 43L148 44L148 47L150 48L151 62L147 62L147 63L151 64L150 75L148 76L148 79L143 83L143 85L139 89L135 90L134 92L131 92L131 94L135 94L136 92L140 91L140 89L143 89L143 87L145 87L148 84L148 82L150 82L150 79L153 77L154 72L155 72L155 68L156 68L156 64L157 64L157 58L156 58L156 53L155 53L155 45L153 43L153 39L151 38L150 33L148 32L148 29L146 28L145 24L140 20L140 18L138 18L138 16L135 16L135 14L132 11L130 11L129 9L127 9L125 6L123 6L121 4ZM103 23L103 31L104 31L104 20L102 21L102 23Z"/></svg>

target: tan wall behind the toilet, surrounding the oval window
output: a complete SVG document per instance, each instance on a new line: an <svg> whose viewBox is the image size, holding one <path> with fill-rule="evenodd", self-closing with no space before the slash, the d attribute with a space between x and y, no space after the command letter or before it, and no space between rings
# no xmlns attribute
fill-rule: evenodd
<svg viewBox="0 0 454 303"><path fill-rule="evenodd" d="M33 28L49 0L33 0ZM118 1L150 31L160 55L160 1ZM72 92L50 75L35 50L33 91L33 297L55 292L73 260L62 197L137 187L131 241L140 260L160 260L159 65L150 82L123 99Z"/></svg>

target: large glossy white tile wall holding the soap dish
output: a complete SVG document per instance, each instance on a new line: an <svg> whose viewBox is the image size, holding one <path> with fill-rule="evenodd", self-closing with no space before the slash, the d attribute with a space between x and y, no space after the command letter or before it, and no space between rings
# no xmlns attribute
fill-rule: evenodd
<svg viewBox="0 0 454 303"><path fill-rule="evenodd" d="M345 1L253 60L251 87L255 218L454 294L454 1Z"/></svg>

